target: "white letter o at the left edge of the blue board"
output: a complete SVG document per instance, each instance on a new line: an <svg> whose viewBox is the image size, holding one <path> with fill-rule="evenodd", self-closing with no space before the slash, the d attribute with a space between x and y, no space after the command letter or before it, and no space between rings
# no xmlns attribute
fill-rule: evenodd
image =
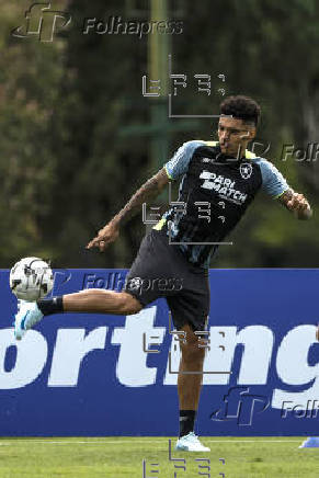
<svg viewBox="0 0 319 478"><path fill-rule="evenodd" d="M10 346L16 348L16 360L10 372L4 369L4 360ZM0 389L9 390L25 387L42 373L47 358L45 338L35 330L16 342L13 328L0 330Z"/></svg>

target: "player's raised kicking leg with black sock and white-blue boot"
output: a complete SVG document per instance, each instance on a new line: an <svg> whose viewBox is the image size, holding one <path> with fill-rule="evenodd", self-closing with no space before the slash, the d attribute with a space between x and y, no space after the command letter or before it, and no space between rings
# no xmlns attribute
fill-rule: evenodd
<svg viewBox="0 0 319 478"><path fill-rule="evenodd" d="M14 335L21 340L26 330L44 316L62 312L132 315L143 308L139 300L126 292L90 289L36 303L21 300L14 319Z"/></svg>

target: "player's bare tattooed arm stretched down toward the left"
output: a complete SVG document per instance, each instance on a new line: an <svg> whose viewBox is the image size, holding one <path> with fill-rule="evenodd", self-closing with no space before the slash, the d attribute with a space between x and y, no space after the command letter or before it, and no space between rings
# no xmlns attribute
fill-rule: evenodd
<svg viewBox="0 0 319 478"><path fill-rule="evenodd" d="M119 234L119 227L123 226L128 219L135 216L144 203L153 200L169 183L170 179L167 174L166 168L159 170L157 174L150 178L143 186L130 197L124 208L113 217L113 219L99 230L98 236L92 239L87 249L99 248L103 252L106 247L114 242Z"/></svg>

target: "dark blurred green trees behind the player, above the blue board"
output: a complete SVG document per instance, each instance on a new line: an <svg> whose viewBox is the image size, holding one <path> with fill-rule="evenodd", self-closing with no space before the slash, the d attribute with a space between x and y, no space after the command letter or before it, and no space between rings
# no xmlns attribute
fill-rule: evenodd
<svg viewBox="0 0 319 478"><path fill-rule="evenodd" d="M136 254L141 214L106 254L84 252L95 231L157 172L150 136L119 135L150 123L151 100L141 95L147 37L81 34L84 18L129 19L125 4L57 1L72 22L53 43L42 43L10 35L29 4L0 1L2 268L29 254L49 257L56 266L125 268ZM220 248L212 266L317 266L319 160L283 161L281 153L284 144L318 140L318 2L202 0L195 11L191 2L183 5L184 32L170 38L174 72L190 79L179 105L189 114L217 114L217 76L224 72L227 94L261 103L258 140L271 143L266 158L315 208L311 221L298 221L260 195L233 232L235 244ZM210 96L191 80L203 72L212 75ZM187 139L213 139L215 129L216 122L202 120L193 132L171 133L170 150Z"/></svg>

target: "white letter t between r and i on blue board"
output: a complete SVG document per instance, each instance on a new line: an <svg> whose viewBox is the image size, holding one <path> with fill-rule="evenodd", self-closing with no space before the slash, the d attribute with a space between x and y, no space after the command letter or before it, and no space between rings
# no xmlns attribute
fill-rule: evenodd
<svg viewBox="0 0 319 478"><path fill-rule="evenodd" d="M125 327L114 328L112 343L121 345L116 364L116 376L122 385L127 387L144 387L156 383L157 367L148 367L148 354L143 350L143 334L146 333L147 348L150 335L159 335L163 341L166 327L153 327L157 307L143 309L140 312L127 316Z"/></svg>

